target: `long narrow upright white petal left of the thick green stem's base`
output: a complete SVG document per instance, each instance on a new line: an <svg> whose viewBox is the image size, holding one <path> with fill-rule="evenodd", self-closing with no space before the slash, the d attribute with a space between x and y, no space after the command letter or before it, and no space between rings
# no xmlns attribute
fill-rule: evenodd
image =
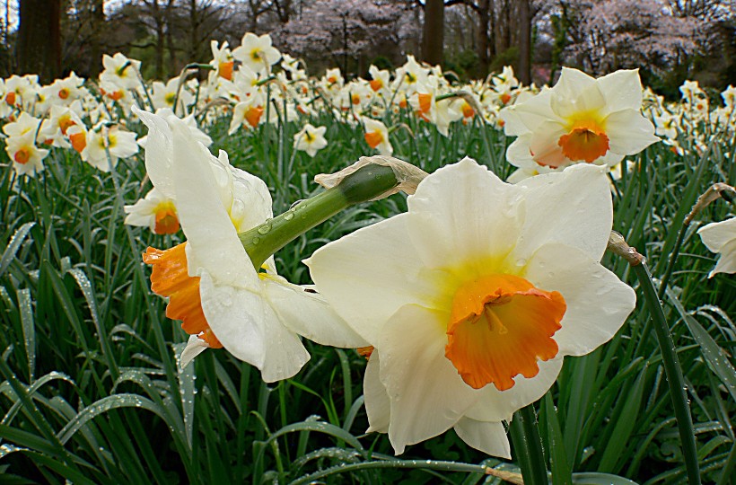
<svg viewBox="0 0 736 485"><path fill-rule="evenodd" d="M224 209L209 152L188 136L188 127L172 122L176 205L187 235L189 274L201 265L218 285L250 287L257 291L258 275L245 252L235 226Z"/></svg>

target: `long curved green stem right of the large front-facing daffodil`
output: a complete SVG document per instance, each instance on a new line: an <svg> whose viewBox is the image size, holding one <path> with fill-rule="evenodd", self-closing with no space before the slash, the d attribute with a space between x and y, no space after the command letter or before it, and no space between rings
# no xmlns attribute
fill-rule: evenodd
<svg viewBox="0 0 736 485"><path fill-rule="evenodd" d="M639 285L644 293L644 301L652 315L654 332L657 335L657 342L662 352L662 365L667 375L667 382L670 384L670 397L672 398L672 407L675 410L675 419L678 422L679 440L682 444L685 468L688 471L688 482L691 485L697 485L700 483L700 472L697 464L695 430L692 416L690 416L687 386L682 376L682 367L679 366L675 343L672 340L670 327L664 318L662 303L654 289L649 269L646 268L644 262L632 265L632 269L634 269L636 278L639 279Z"/></svg>

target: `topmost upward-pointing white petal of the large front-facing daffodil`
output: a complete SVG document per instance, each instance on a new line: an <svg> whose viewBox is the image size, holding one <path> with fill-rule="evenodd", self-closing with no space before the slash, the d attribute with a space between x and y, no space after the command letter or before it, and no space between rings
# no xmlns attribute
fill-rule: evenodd
<svg viewBox="0 0 736 485"><path fill-rule="evenodd" d="M522 191L469 158L437 170L407 201L419 257L429 268L486 265L502 257L516 243Z"/></svg>

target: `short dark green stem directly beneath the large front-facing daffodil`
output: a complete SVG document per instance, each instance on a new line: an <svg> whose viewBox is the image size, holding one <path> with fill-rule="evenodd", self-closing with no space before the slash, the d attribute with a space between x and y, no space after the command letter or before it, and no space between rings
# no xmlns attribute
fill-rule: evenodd
<svg viewBox="0 0 736 485"><path fill-rule="evenodd" d="M533 404L514 413L510 432L524 483L548 485L547 461L542 450Z"/></svg>

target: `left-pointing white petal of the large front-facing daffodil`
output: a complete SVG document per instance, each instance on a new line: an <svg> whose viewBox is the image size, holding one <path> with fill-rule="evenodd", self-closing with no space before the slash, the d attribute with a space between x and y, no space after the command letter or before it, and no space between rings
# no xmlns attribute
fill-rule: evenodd
<svg viewBox="0 0 736 485"><path fill-rule="evenodd" d="M304 263L320 294L372 345L401 306L430 304L436 293L409 241L407 214L330 242Z"/></svg>

